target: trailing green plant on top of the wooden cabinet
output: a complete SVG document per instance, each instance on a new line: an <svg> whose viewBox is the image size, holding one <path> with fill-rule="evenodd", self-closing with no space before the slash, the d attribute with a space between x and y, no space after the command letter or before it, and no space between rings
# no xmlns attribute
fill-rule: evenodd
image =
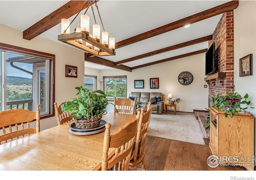
<svg viewBox="0 0 256 180"><path fill-rule="evenodd" d="M217 96L212 98L212 106L217 110L225 112L224 115L226 117L228 117L228 113L230 113L229 116L231 118L236 112L250 113L246 112L246 109L250 107L251 103L251 101L247 101L247 98L249 97L247 93L242 97L237 92L232 93L229 90L225 90L225 92L227 94L218 93ZM242 107L241 104L244 104L244 107Z"/></svg>

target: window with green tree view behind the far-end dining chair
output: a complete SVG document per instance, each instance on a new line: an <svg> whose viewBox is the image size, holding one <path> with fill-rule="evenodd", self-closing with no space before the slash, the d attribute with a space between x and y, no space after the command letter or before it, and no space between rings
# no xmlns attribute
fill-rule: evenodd
<svg viewBox="0 0 256 180"><path fill-rule="evenodd" d="M126 76L104 76L103 87L108 98L126 98Z"/></svg>

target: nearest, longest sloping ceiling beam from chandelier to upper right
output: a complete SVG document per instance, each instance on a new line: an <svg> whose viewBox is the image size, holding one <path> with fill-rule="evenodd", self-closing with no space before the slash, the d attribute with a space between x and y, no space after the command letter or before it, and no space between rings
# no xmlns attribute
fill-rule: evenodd
<svg viewBox="0 0 256 180"><path fill-rule="evenodd" d="M171 22L171 23L166 24L164 26L160 26L160 27L155 28L153 30L149 30L149 31L144 32L142 34L138 34L138 35L130 37L128 39L116 42L115 48L116 49L121 48L121 47L127 46L129 44L139 42L141 40L145 40L147 38L151 38L153 36L157 36L159 34L162 34L162 33L177 29L177 28L181 28L181 27L183 27L187 24L192 24L194 22L198 22L198 21L216 16L218 14L222 14L224 12L232 11L232 10L236 9L237 7L238 7L238 1L226 2L224 4L216 6L214 8L210 8L208 10L199 12L197 14L193 14L191 16L188 16L186 18L177 20L175 22Z"/></svg>

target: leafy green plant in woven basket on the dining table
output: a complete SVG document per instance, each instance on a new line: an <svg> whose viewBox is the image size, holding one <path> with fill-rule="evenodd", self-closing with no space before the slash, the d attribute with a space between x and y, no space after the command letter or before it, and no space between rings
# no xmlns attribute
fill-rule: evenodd
<svg viewBox="0 0 256 180"><path fill-rule="evenodd" d="M106 94L102 90L95 90L90 92L82 86L76 87L78 90L76 98L68 101L61 106L62 111L70 112L73 117L73 122L76 128L89 129L95 128L100 124L102 115L106 113L108 100ZM112 104L112 103L111 103Z"/></svg>

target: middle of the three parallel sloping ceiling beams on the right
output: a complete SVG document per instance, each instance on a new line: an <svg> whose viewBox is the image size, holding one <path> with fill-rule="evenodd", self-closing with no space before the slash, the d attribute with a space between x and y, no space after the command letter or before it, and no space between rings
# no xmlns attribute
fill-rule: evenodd
<svg viewBox="0 0 256 180"><path fill-rule="evenodd" d="M186 46L191 46L191 45L194 45L194 44L198 44L198 43L205 42L205 41L208 41L208 40L212 40L212 35L205 36L205 37L198 38L198 39L194 39L194 40L187 41L187 42L183 42L183 43L180 43L180 44L176 44L174 46L170 46L170 47L167 47L167 48L155 50L155 51L148 52L148 53L145 53L145 54L141 54L139 56L134 56L132 58L128 58L128 59L125 59L125 60L115 62L115 64L116 65L124 64L124 63L135 61L135 60L138 60L138 59L154 56L154 55L157 55L157 54L160 54L160 53L163 53L163 52L168 52L168 51L171 51L171 50L175 50L175 49L179 49L179 48L184 48Z"/></svg>

